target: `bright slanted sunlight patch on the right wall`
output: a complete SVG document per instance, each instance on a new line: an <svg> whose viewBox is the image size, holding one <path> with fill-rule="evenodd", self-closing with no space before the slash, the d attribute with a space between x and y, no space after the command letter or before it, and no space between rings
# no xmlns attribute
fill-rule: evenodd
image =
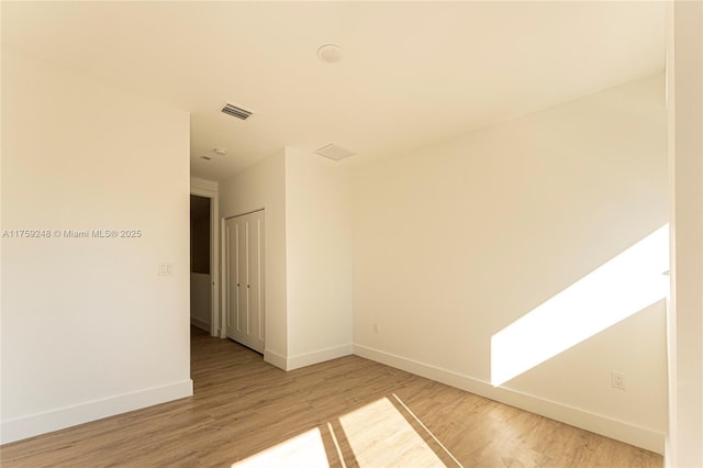
<svg viewBox="0 0 703 468"><path fill-rule="evenodd" d="M500 386L669 293L669 225L554 296L491 337Z"/></svg>

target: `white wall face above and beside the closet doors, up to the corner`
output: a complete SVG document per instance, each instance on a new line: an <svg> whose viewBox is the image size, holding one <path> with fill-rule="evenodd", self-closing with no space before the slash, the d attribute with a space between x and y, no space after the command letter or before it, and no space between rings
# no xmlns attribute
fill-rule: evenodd
<svg viewBox="0 0 703 468"><path fill-rule="evenodd" d="M286 152L281 149L220 183L222 219L265 209L266 349L264 358L282 369L288 357L286 299ZM223 285L223 294L226 285ZM226 304L223 301L223 304Z"/></svg>

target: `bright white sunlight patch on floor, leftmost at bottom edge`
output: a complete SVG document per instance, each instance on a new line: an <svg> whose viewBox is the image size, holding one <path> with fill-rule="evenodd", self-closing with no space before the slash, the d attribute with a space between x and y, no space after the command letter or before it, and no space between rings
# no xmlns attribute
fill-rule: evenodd
<svg viewBox="0 0 703 468"><path fill-rule="evenodd" d="M328 468L320 430L315 427L232 465L232 468L271 467Z"/></svg>

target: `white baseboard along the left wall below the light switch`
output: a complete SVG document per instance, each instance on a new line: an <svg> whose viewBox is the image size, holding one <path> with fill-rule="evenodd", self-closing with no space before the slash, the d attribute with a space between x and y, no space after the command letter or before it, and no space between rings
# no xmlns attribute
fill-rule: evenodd
<svg viewBox="0 0 703 468"><path fill-rule="evenodd" d="M4 421L2 422L2 430L0 431L0 443L8 444L115 414L192 397L192 394L193 381L188 379L163 387L93 400L45 413Z"/></svg>

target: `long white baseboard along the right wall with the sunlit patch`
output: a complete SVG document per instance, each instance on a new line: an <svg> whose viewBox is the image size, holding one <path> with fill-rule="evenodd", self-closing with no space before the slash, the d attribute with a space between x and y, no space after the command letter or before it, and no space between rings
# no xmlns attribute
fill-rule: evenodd
<svg viewBox="0 0 703 468"><path fill-rule="evenodd" d="M354 345L354 354L387 366L425 377L478 395L520 408L585 431L604 435L636 447L663 455L665 435L646 427L617 421L602 414L579 408L568 406L555 401L523 393L465 376L451 370L431 366L402 356L397 356L368 346Z"/></svg>

